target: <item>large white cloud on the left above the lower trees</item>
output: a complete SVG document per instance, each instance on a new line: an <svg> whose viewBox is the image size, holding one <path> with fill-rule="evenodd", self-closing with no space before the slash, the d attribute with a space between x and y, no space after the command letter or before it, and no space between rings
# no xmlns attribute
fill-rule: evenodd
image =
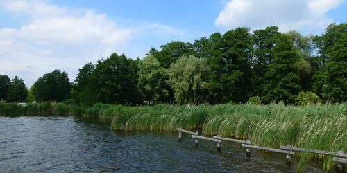
<svg viewBox="0 0 347 173"><path fill-rule="evenodd" d="M183 35L161 24L125 28L94 10L40 0L0 0L0 8L12 17L28 18L18 28L0 28L0 74L11 78L19 75L28 86L54 69L67 71L74 80L83 64L113 52L124 53L122 50L129 50L129 42L148 33Z"/></svg>

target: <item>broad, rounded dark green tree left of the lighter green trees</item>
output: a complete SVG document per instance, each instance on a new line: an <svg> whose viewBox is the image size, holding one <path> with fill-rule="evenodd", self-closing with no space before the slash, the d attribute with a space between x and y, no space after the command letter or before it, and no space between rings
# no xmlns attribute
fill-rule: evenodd
<svg viewBox="0 0 347 173"><path fill-rule="evenodd" d="M86 87L83 104L138 104L141 96L137 89L137 62L125 55L113 53L99 60Z"/></svg>

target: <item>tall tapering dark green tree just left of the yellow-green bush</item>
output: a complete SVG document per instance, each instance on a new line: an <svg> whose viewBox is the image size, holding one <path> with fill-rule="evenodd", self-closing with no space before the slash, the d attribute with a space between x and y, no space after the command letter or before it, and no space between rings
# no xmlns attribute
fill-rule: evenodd
<svg viewBox="0 0 347 173"><path fill-rule="evenodd" d="M295 66L299 57L293 40L288 35L281 34L271 53L273 60L265 74L269 83L266 84L264 100L294 103L301 86L298 69Z"/></svg>

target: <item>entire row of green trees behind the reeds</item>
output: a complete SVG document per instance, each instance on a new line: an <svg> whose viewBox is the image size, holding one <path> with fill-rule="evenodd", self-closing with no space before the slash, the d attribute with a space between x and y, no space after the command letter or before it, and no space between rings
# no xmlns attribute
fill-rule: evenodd
<svg viewBox="0 0 347 173"><path fill-rule="evenodd" d="M240 27L194 43L169 42L136 60L113 53L85 64L69 82L59 70L28 91L22 79L0 76L0 99L76 104L219 104L257 100L296 104L307 98L345 102L347 24L330 24L322 35L280 33L269 26ZM25 96L24 96L25 95Z"/></svg>

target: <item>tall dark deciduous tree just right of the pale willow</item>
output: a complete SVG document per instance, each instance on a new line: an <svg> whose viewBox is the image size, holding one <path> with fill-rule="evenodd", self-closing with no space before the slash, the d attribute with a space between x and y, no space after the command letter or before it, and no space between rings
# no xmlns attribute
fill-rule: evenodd
<svg viewBox="0 0 347 173"><path fill-rule="evenodd" d="M218 58L223 100L246 102L251 89L251 35L248 28L236 28L223 35L222 57Z"/></svg>

